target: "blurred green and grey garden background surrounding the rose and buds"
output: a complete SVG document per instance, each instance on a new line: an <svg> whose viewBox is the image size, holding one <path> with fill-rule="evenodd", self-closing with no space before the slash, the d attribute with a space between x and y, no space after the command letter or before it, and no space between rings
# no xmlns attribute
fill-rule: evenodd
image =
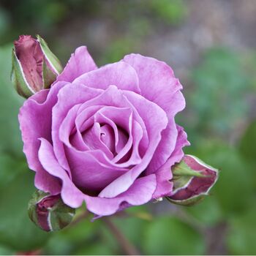
<svg viewBox="0 0 256 256"><path fill-rule="evenodd" d="M27 216L34 173L10 83L20 34L40 34L62 64L80 45L99 66L131 52L166 61L187 99L176 118L185 151L219 168L219 181L197 206L163 200L112 221L142 255L255 255L255 28L255 0L0 0L0 255L125 253L102 219L44 233Z"/></svg>

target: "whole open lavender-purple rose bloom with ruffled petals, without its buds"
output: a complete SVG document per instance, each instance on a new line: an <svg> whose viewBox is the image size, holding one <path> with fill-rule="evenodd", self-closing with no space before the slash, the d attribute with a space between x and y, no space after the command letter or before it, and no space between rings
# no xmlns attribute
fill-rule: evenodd
<svg viewBox="0 0 256 256"><path fill-rule="evenodd" d="M20 108L35 186L98 216L172 195L171 167L189 145L174 119L181 89L165 62L130 54L97 68L78 48L51 88Z"/></svg>

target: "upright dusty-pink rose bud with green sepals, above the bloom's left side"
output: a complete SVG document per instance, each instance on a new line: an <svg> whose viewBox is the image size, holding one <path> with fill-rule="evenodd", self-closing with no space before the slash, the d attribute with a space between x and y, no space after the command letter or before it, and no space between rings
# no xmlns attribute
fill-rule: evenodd
<svg viewBox="0 0 256 256"><path fill-rule="evenodd" d="M20 36L12 50L12 83L20 96L30 97L50 88L62 71L61 64L45 40L37 36Z"/></svg>

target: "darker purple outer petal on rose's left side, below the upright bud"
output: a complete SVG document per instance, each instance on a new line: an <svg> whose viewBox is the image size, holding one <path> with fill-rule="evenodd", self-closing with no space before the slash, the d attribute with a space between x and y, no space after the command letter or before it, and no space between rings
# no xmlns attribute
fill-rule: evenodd
<svg viewBox="0 0 256 256"><path fill-rule="evenodd" d="M29 168L35 170L35 186L55 195L60 190L58 178L50 176L42 168L38 159L40 142L38 138L50 138L51 110L56 103L56 94L66 82L56 83L51 90L42 90L26 100L20 108L19 122L23 139L23 151L26 154Z"/></svg>

